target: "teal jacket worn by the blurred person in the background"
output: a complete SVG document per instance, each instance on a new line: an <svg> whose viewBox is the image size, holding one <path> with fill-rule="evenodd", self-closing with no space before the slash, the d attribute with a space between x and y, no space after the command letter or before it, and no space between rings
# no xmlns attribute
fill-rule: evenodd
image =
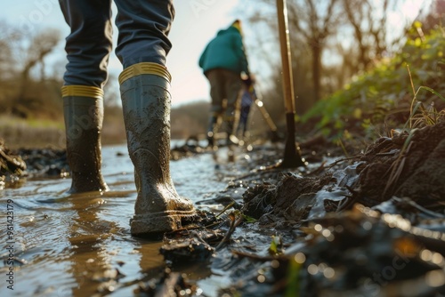
<svg viewBox="0 0 445 297"><path fill-rule="evenodd" d="M249 75L248 63L242 36L233 26L220 30L206 46L199 58L199 67L203 72L224 68L236 73Z"/></svg>

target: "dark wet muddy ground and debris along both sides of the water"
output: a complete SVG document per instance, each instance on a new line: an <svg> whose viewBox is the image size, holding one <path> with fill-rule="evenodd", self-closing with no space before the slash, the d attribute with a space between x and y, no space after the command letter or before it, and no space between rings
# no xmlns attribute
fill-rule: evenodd
<svg viewBox="0 0 445 297"><path fill-rule="evenodd" d="M445 123L344 149L300 143L317 167L282 168L279 145L237 148L250 169L182 230L166 234L158 277L138 295L206 295L181 267L201 263L231 283L221 296L445 295ZM198 142L172 159L209 153ZM67 176L63 150L0 150L0 189L23 176ZM199 203L198 203L199 206Z"/></svg>

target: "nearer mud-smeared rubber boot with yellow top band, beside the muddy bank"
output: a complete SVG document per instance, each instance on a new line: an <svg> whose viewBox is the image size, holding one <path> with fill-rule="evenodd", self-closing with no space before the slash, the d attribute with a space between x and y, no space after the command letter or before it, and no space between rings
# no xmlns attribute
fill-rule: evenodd
<svg viewBox="0 0 445 297"><path fill-rule="evenodd" d="M158 64L138 63L124 70L119 83L137 189L131 232L148 236L181 228L195 209L170 178L170 74Z"/></svg>

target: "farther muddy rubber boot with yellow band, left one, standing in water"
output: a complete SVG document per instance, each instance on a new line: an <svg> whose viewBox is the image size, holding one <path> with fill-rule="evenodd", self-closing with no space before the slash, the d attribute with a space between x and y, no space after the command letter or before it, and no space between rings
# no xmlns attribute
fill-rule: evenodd
<svg viewBox="0 0 445 297"><path fill-rule="evenodd" d="M101 174L103 92L94 86L65 85L62 97L72 178L69 193L106 191Z"/></svg>

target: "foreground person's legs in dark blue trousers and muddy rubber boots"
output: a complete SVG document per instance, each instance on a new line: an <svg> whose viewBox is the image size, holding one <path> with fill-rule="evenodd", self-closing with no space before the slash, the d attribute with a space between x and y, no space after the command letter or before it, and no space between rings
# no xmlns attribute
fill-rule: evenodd
<svg viewBox="0 0 445 297"><path fill-rule="evenodd" d="M61 88L72 173L69 193L106 191L101 174L103 86L112 51L111 1L61 0L71 28L68 64ZM116 54L128 153L134 164L137 199L131 233L158 234L181 227L195 214L170 178L171 76L166 55L174 19L173 1L115 0L119 30Z"/></svg>

